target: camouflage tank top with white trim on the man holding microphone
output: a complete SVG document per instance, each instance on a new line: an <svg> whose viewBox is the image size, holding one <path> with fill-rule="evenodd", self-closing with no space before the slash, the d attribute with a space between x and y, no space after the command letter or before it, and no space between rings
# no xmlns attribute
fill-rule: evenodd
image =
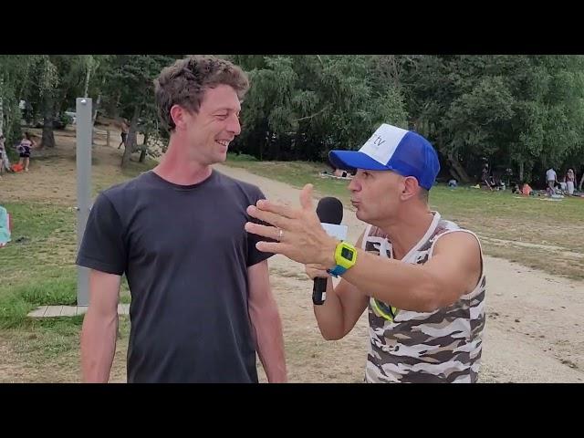
<svg viewBox="0 0 584 438"><path fill-rule="evenodd" d="M433 222L417 245L402 258L423 265L432 258L439 237L453 232L474 233L442 220ZM474 235L476 237L476 235ZM478 238L477 238L478 240ZM480 245L480 242L479 242ZM362 248L393 257L391 242L369 225ZM475 382L485 328L485 269L481 249L481 277L474 290L448 308L420 313L394 308L373 297L369 302L370 349L367 382Z"/></svg>

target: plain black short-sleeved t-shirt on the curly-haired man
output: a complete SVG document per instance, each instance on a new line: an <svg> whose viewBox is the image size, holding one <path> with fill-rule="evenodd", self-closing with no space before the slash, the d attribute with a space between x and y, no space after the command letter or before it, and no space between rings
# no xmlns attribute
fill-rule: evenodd
<svg viewBox="0 0 584 438"><path fill-rule="evenodd" d="M129 382L256 382L247 267L271 254L247 234L254 185L213 171L177 185L154 172L100 193L77 263L126 274Z"/></svg>

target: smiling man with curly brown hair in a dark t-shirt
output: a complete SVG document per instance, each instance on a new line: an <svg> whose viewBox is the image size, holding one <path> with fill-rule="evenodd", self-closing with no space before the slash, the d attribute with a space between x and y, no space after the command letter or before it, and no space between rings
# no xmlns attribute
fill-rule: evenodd
<svg viewBox="0 0 584 438"><path fill-rule="evenodd" d="M264 198L217 172L241 131L241 68L187 57L155 81L170 130L150 172L99 194L77 263L91 269L83 322L84 381L109 380L120 279L130 287L129 382L287 381L282 326L267 258L245 233L245 209Z"/></svg>

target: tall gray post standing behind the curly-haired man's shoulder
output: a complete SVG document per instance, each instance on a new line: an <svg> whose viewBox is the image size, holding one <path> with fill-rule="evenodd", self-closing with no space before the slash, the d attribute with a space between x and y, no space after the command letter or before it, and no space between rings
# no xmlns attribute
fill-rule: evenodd
<svg viewBox="0 0 584 438"><path fill-rule="evenodd" d="M77 248L91 207L91 99L77 99ZM77 305L89 305L89 269L78 266Z"/></svg>

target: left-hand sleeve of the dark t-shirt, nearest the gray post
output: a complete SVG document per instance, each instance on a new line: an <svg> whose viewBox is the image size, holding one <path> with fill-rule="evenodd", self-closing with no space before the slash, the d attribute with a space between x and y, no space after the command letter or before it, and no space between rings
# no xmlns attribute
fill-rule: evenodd
<svg viewBox="0 0 584 438"><path fill-rule="evenodd" d="M110 199L101 193L89 212L77 264L121 276L126 270L126 263L127 251L120 214Z"/></svg>

